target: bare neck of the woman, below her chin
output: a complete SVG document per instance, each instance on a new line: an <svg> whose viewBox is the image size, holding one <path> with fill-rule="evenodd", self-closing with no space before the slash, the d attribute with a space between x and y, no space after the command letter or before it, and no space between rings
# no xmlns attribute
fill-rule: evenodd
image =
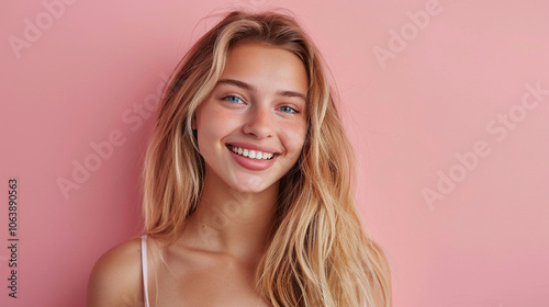
<svg viewBox="0 0 549 307"><path fill-rule="evenodd" d="M206 177L186 232L195 238L194 248L257 260L271 237L277 196L278 183L259 193L248 193Z"/></svg>

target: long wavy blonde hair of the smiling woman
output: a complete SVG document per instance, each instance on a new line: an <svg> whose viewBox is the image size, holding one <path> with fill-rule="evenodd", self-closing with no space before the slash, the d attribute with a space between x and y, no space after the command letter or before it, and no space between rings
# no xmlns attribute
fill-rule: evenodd
<svg viewBox="0 0 549 307"><path fill-rule="evenodd" d="M385 257L355 207L354 157L324 61L298 22L279 12L234 11L187 53L166 88L143 172L145 232L181 236L201 197L204 161L191 118L239 42L264 42L296 55L309 75L307 136L280 180L277 229L257 268L272 306L391 306Z"/></svg>

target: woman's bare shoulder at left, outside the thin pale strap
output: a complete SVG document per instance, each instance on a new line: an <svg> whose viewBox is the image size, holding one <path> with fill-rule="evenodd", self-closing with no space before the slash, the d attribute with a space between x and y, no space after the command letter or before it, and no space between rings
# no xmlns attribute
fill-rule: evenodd
<svg viewBox="0 0 549 307"><path fill-rule="evenodd" d="M93 265L86 306L143 306L141 239L105 252Z"/></svg>

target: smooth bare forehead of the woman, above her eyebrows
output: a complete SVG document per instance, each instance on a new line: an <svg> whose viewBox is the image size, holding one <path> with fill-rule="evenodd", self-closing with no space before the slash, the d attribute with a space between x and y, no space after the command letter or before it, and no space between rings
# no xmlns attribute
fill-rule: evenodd
<svg viewBox="0 0 549 307"><path fill-rule="evenodd" d="M309 77L294 54L262 42L238 43L227 55L222 79L235 79L258 89L296 91L306 95Z"/></svg>

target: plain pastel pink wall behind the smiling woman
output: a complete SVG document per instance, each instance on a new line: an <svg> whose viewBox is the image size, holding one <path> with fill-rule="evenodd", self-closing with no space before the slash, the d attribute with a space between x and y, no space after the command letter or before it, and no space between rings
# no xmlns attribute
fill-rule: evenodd
<svg viewBox="0 0 549 307"><path fill-rule="evenodd" d="M1 306L83 306L94 261L139 229L157 88L214 22L200 19L234 7L294 11L329 64L394 306L549 306L541 0L1 1Z"/></svg>

